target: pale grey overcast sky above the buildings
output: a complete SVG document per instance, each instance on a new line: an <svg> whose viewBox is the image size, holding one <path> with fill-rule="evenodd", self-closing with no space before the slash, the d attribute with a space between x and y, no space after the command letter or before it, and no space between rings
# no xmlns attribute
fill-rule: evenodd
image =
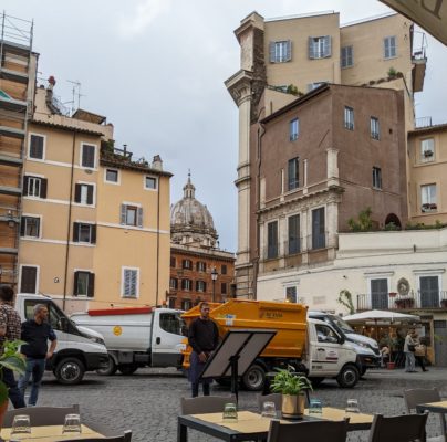
<svg viewBox="0 0 447 442"><path fill-rule="evenodd" d="M377 0L2 0L9 15L34 20L39 76L54 75L54 93L105 115L116 145L136 157L159 154L174 173L171 202L191 169L220 246L237 249L238 112L224 81L239 70L233 30L256 10L264 18L335 10L341 22L389 9ZM417 117L447 122L447 48L428 39L425 91ZM444 107L444 109L443 109Z"/></svg>

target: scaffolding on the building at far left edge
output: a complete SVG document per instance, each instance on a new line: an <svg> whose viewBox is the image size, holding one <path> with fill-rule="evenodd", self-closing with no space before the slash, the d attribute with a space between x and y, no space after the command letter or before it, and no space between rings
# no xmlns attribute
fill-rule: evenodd
<svg viewBox="0 0 447 442"><path fill-rule="evenodd" d="M0 282L17 285L27 125L32 112L33 22L0 13Z"/></svg>

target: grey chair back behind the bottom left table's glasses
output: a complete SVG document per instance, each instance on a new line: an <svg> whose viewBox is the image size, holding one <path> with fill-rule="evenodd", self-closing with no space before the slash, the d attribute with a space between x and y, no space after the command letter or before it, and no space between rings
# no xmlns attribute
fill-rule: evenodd
<svg viewBox="0 0 447 442"><path fill-rule="evenodd" d="M79 414L80 406L72 407L25 407L9 410L3 418L3 428L12 427L18 414L28 414L32 427L63 425L66 414Z"/></svg>

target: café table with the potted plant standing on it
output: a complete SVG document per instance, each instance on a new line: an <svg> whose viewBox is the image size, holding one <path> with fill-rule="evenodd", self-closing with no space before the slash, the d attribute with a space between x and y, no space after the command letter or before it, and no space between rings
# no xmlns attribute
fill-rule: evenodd
<svg viewBox="0 0 447 442"><path fill-rule="evenodd" d="M303 420L334 420L350 418L349 431L368 430L373 423L372 414L346 413L344 410L324 407L321 417L309 417L305 410ZM281 420L293 423L300 421ZM222 441L267 441L270 419L261 418L251 411L239 411L237 422L222 422L222 413L184 414L178 417L177 442L187 442L188 428L212 435Z"/></svg>

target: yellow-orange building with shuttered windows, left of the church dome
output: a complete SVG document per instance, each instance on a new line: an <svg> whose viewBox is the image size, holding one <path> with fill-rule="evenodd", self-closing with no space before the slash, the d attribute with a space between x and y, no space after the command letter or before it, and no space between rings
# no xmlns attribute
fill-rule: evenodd
<svg viewBox="0 0 447 442"><path fill-rule="evenodd" d="M135 161L113 125L61 113L53 77L28 127L19 291L71 312L155 304L169 281L169 178L159 157Z"/></svg>

